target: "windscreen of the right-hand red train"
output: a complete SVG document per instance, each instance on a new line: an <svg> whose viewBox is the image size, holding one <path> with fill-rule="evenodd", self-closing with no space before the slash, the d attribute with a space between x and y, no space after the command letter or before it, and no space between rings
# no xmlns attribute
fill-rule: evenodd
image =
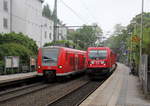
<svg viewBox="0 0 150 106"><path fill-rule="evenodd" d="M90 50L89 58L90 59L106 59L107 51L106 50Z"/></svg>

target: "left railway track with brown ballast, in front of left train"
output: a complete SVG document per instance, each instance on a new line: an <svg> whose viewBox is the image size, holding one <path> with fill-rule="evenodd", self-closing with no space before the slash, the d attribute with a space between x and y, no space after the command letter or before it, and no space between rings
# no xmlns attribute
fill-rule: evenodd
<svg viewBox="0 0 150 106"><path fill-rule="evenodd" d="M87 82L87 79L80 77L63 83L35 84L32 87L1 93L0 104L1 106L45 106Z"/></svg>

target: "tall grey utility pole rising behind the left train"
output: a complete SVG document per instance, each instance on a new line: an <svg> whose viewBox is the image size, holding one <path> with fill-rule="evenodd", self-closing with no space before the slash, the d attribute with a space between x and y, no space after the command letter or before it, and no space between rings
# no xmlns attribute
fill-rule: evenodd
<svg viewBox="0 0 150 106"><path fill-rule="evenodd" d="M53 33L54 40L53 41L55 42L57 38L57 0L55 0L53 15L54 15L54 33Z"/></svg>

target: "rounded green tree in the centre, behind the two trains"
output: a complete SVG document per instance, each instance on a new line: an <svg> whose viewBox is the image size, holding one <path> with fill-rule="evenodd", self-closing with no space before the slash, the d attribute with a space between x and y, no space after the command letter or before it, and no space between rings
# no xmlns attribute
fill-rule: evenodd
<svg viewBox="0 0 150 106"><path fill-rule="evenodd" d="M84 25L82 28L68 34L68 39L78 44L82 49L87 49L89 46L94 46L98 36L101 36L102 30L100 27Z"/></svg>

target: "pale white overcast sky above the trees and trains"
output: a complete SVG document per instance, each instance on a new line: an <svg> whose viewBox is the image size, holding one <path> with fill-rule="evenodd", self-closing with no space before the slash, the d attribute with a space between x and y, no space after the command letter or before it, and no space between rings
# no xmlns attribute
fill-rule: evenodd
<svg viewBox="0 0 150 106"><path fill-rule="evenodd" d="M54 0L45 0L53 10ZM58 18L67 26L97 23L104 33L116 24L126 26L141 13L142 0L58 0ZM144 0L144 12L150 12L150 0Z"/></svg>

